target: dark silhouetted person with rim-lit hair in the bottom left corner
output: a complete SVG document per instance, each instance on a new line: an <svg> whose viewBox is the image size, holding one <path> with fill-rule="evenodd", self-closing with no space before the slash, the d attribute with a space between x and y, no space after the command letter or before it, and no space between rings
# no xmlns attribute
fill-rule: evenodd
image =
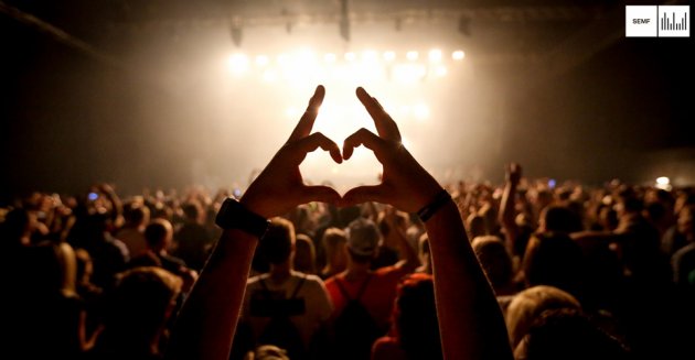
<svg viewBox="0 0 695 360"><path fill-rule="evenodd" d="M92 346L84 303L75 292L75 253L41 242L22 252L3 296L2 358L75 359Z"/></svg>

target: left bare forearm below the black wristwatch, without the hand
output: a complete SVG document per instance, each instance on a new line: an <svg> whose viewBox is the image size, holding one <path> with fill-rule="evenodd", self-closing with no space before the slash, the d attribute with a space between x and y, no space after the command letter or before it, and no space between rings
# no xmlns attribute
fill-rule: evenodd
<svg viewBox="0 0 695 360"><path fill-rule="evenodd" d="M228 359L257 242L223 232L179 314L167 359Z"/></svg>

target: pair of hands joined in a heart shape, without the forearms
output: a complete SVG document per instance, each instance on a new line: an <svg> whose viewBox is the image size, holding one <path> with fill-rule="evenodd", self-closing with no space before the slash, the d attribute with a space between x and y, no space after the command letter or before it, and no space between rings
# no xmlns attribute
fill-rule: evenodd
<svg viewBox="0 0 695 360"><path fill-rule="evenodd" d="M357 130L345 139L341 156L333 141L320 132L311 133L325 96L323 86L318 86L291 135L249 185L242 197L242 204L266 218L285 214L297 205L309 201L340 206L378 201L408 212L415 212L428 204L441 190L441 186L405 149L400 142L398 126L379 102L361 87L356 94L374 120L378 135L364 128ZM299 164L307 153L321 148L340 164L343 160L349 160L360 145L372 150L384 166L381 184L352 188L342 198L331 187L303 184Z"/></svg>

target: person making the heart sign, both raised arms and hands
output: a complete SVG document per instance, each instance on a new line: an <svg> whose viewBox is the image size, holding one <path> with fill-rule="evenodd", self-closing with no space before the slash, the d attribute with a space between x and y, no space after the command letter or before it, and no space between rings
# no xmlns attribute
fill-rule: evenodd
<svg viewBox="0 0 695 360"><path fill-rule="evenodd" d="M425 222L435 264L443 356L448 359L511 359L501 310L449 194L410 155L403 145L396 122L363 88L357 88L357 98L374 120L378 135L361 129L345 139L341 154L338 145L323 134L311 134L324 94L324 88L319 86L287 143L249 185L239 203L229 203L227 211L231 212L222 212L221 223L226 230L179 314L167 357L227 359L229 356L246 276L263 234L263 221L226 222L225 214L238 211L259 220L286 214L308 201L343 206L378 201L406 212L419 212ZM308 152L322 148L341 163L349 160L359 145L372 150L383 164L379 185L360 186L341 197L328 186L302 183L299 164Z"/></svg>

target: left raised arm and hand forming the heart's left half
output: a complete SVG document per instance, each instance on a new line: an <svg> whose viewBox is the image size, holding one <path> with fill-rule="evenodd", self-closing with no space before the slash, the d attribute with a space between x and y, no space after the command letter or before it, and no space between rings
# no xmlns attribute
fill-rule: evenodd
<svg viewBox="0 0 695 360"><path fill-rule="evenodd" d="M338 145L311 133L325 90L319 86L287 143L249 185L240 199L264 218L281 215L309 201L338 203L330 187L306 186L299 164L318 148L342 162ZM246 279L258 238L242 230L225 230L203 268L177 319L167 359L227 360L242 308Z"/></svg>

